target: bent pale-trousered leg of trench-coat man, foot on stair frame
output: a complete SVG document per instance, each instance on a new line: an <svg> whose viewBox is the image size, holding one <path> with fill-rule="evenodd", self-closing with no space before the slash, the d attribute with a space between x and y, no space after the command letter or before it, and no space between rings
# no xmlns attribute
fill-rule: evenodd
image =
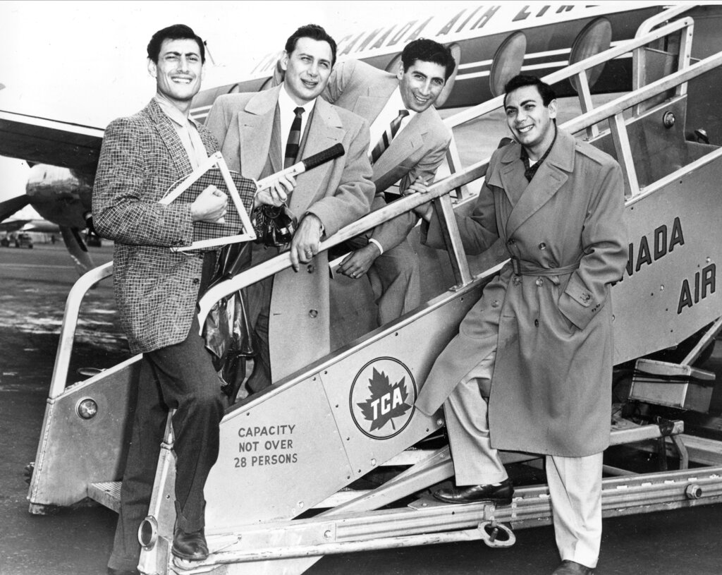
<svg viewBox="0 0 722 575"><path fill-rule="evenodd" d="M492 352L464 377L444 404L456 485L483 485L508 479L498 451L492 449L487 421L488 390L496 353Z"/></svg>

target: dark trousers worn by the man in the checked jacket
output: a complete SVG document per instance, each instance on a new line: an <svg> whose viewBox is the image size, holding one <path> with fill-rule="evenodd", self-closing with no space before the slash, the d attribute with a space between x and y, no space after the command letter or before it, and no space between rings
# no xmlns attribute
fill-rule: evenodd
<svg viewBox="0 0 722 575"><path fill-rule="evenodd" d="M121 487L113 553L108 566L136 568L138 527L147 516L168 412L175 442L176 526L186 532L204 527L206 477L218 457L219 423L224 405L220 383L199 324L193 316L186 340L145 353L131 445Z"/></svg>

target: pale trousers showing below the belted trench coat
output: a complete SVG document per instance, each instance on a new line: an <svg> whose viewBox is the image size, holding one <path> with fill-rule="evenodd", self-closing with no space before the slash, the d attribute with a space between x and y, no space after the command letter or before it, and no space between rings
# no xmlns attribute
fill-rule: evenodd
<svg viewBox="0 0 722 575"><path fill-rule="evenodd" d="M498 483L508 477L492 449L487 402L496 352L479 362L444 404L457 485ZM601 453L546 456L554 536L563 559L596 567L601 546Z"/></svg>

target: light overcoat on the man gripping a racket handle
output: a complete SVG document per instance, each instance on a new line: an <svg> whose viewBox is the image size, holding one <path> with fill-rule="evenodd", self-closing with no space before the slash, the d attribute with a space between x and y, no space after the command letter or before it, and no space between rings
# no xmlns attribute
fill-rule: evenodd
<svg viewBox="0 0 722 575"><path fill-rule="evenodd" d="M258 179L269 161L279 90L282 86L222 95L209 112L206 126L220 143L229 168L246 178ZM368 126L362 118L318 98L302 159L336 143L343 144L345 153L296 176L291 211L299 218L306 213L316 215L326 236L366 215L374 194L368 142ZM272 161L280 155L270 157ZM274 171L281 169L282 165L274 166ZM277 251L266 253L272 256ZM256 255L258 250L254 250L254 263ZM328 254L323 251L300 272L285 269L274 278L269 317L274 383L331 349L328 269Z"/></svg>

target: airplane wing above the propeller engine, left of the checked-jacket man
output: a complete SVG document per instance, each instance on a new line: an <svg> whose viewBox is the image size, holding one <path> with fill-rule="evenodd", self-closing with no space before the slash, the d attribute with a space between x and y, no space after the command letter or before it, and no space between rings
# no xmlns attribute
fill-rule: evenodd
<svg viewBox="0 0 722 575"><path fill-rule="evenodd" d="M95 172L103 130L0 110L0 155Z"/></svg>

